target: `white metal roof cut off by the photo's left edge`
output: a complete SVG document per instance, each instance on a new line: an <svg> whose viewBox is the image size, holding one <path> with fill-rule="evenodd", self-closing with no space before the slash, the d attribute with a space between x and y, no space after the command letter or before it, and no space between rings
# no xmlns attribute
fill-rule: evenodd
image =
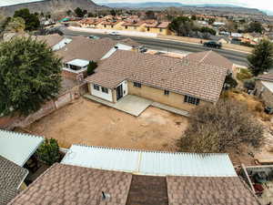
<svg viewBox="0 0 273 205"><path fill-rule="evenodd" d="M42 137L0 129L0 155L23 167L43 141Z"/></svg>

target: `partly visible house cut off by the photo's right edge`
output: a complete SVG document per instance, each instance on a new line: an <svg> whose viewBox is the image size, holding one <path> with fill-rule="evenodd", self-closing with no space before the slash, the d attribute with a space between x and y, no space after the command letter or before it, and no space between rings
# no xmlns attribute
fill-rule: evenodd
<svg viewBox="0 0 273 205"><path fill-rule="evenodd" d="M273 74L268 73L256 77L255 93L265 104L273 108Z"/></svg>

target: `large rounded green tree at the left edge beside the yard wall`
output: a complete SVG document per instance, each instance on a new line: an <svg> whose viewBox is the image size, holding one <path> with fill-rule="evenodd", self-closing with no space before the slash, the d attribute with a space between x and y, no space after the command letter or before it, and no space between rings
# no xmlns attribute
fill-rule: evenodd
<svg viewBox="0 0 273 205"><path fill-rule="evenodd" d="M61 59L45 42L14 38L0 44L0 114L28 115L56 97Z"/></svg>

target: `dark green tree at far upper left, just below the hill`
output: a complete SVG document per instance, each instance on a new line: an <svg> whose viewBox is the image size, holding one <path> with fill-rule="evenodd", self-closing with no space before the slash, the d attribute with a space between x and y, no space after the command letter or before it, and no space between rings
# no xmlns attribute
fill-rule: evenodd
<svg viewBox="0 0 273 205"><path fill-rule="evenodd" d="M28 8L15 11L14 17L21 17L25 20L25 30L33 31L39 28L40 21L38 15L30 14Z"/></svg>

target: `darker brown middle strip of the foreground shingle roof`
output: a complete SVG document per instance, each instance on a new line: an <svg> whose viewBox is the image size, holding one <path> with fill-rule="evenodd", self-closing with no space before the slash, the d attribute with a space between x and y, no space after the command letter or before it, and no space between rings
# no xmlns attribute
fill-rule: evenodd
<svg viewBox="0 0 273 205"><path fill-rule="evenodd" d="M168 205L166 178L133 175L126 205Z"/></svg>

